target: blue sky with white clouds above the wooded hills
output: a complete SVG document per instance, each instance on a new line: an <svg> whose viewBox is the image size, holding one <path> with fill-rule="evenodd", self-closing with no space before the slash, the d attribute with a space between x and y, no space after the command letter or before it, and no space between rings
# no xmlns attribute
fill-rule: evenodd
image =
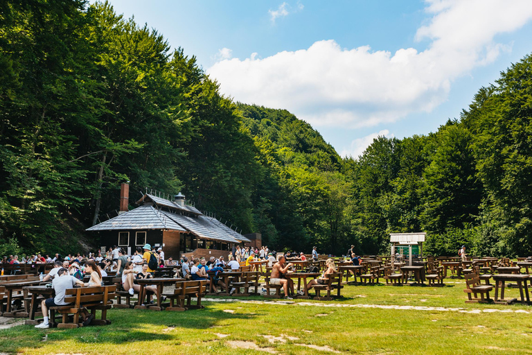
<svg viewBox="0 0 532 355"><path fill-rule="evenodd" d="M435 132L532 52L532 0L111 0L242 103L286 109L337 152Z"/></svg>

